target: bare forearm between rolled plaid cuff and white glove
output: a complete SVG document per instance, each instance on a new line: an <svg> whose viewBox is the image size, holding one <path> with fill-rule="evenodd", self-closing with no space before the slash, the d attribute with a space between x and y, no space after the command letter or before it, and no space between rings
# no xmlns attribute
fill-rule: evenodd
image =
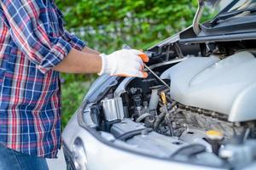
<svg viewBox="0 0 256 170"><path fill-rule="evenodd" d="M87 48L83 51L72 48L61 63L55 65L53 69L66 73L98 73L102 70L102 59L99 53L96 54Z"/></svg>

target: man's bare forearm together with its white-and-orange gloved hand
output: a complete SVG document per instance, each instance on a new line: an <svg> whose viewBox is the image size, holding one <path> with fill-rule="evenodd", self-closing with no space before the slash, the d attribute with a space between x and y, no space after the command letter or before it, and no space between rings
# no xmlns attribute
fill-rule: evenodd
<svg viewBox="0 0 256 170"><path fill-rule="evenodd" d="M148 56L135 49L122 49L113 54L91 54L72 48L53 69L67 73L99 73L121 77L148 77L143 62ZM90 51L90 50L89 50Z"/></svg>

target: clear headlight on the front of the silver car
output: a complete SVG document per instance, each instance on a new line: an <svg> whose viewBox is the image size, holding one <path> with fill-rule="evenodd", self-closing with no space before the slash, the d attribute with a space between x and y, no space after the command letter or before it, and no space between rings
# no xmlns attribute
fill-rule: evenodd
<svg viewBox="0 0 256 170"><path fill-rule="evenodd" d="M83 141L79 138L73 143L73 164L78 170L87 169L87 156Z"/></svg>

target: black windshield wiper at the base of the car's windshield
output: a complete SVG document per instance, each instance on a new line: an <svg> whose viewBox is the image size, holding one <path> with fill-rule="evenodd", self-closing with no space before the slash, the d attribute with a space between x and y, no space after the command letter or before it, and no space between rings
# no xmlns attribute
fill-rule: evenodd
<svg viewBox="0 0 256 170"><path fill-rule="evenodd" d="M256 12L256 8L245 8L245 9L241 9L241 10L237 10L229 13L219 14L214 20L212 20L211 26L216 26L219 20L227 20L238 14L242 14L244 12L250 12L252 14Z"/></svg>

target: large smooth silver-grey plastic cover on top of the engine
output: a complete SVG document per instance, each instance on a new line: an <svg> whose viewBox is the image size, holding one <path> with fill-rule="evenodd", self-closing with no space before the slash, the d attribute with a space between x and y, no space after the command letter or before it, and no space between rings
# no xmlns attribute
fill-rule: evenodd
<svg viewBox="0 0 256 170"><path fill-rule="evenodd" d="M161 78L171 79L171 97L183 105L217 111L230 122L256 119L256 59L249 52L190 57Z"/></svg>

